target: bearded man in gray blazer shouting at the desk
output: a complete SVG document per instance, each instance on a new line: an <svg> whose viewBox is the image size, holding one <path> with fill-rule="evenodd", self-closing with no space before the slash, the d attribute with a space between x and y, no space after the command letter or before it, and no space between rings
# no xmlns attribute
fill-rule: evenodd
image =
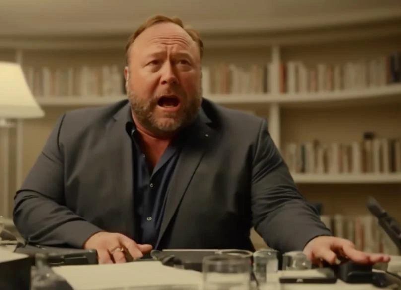
<svg viewBox="0 0 401 290"><path fill-rule="evenodd" d="M332 237L298 192L264 119L202 98L199 35L157 16L129 39L128 101L65 113L15 197L32 243L94 248L100 263L152 248L388 260Z"/></svg>

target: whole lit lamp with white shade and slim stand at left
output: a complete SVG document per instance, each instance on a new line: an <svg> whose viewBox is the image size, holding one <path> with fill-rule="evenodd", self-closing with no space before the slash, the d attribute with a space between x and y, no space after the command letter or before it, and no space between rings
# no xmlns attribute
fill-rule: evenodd
<svg viewBox="0 0 401 290"><path fill-rule="evenodd" d="M40 118L45 115L33 97L22 68L17 63L0 62L0 159L3 161L3 197L0 216L8 216L9 207L9 130L13 120Z"/></svg>

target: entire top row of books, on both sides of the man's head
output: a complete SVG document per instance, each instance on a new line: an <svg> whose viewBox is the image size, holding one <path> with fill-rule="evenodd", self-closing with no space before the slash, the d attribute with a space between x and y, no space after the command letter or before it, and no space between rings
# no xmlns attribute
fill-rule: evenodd
<svg viewBox="0 0 401 290"><path fill-rule="evenodd" d="M202 68L203 94L308 93L370 88L401 82L400 52L343 64L300 61L220 63ZM123 67L24 66L35 96L114 96L125 93Z"/></svg>

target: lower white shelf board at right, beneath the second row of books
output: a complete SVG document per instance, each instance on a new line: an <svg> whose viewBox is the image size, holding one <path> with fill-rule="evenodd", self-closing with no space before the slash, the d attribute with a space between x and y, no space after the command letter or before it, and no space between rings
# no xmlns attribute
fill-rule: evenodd
<svg viewBox="0 0 401 290"><path fill-rule="evenodd" d="M401 173L292 174L296 183L401 183Z"/></svg>

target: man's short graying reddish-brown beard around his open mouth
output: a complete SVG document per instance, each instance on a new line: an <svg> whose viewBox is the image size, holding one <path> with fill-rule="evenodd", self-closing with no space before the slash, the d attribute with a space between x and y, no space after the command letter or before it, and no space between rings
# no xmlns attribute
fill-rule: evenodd
<svg viewBox="0 0 401 290"><path fill-rule="evenodd" d="M155 114L158 96L150 99L137 97L134 91L127 91L131 109L136 120L155 135L170 135L191 124L197 117L202 102L202 88L192 97L180 98L181 108L177 112Z"/></svg>

